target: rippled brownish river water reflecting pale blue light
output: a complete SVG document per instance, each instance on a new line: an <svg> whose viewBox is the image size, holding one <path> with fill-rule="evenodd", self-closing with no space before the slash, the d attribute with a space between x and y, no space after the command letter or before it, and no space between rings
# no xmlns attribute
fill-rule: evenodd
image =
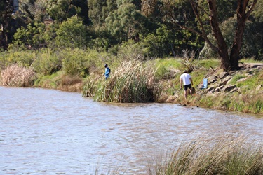
<svg viewBox="0 0 263 175"><path fill-rule="evenodd" d="M17 87L0 87L0 100L0 174L147 174L148 160L181 141L263 138L263 118L196 106L99 103Z"/></svg>

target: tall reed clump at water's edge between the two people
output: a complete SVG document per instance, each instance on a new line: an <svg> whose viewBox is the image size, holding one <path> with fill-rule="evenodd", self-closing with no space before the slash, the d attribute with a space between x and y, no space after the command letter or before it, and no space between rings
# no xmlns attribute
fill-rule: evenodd
<svg viewBox="0 0 263 175"><path fill-rule="evenodd" d="M155 70L143 62L125 61L107 80L88 80L83 97L92 96L99 102L156 102L161 85L154 74Z"/></svg>

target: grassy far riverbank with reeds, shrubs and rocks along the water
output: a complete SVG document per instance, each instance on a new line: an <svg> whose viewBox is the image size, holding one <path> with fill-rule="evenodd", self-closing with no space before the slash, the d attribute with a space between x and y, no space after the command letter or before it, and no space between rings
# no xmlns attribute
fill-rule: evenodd
<svg viewBox="0 0 263 175"><path fill-rule="evenodd" d="M55 55L51 55L50 60L45 62L42 60L43 55L40 62L28 53L29 55L24 56L26 61L18 57L23 60L19 61L20 64L11 64L9 59L3 57L11 65L1 66L4 67L1 69L1 85L81 92L83 97L93 97L98 102L177 103L244 113L263 113L262 62L243 59L241 70L224 72L219 68L219 59L167 58L140 61L112 57L107 59L107 62L112 63L109 64L111 76L104 80L102 75L105 60L94 61L93 57L99 57L95 55L98 54L96 52L81 53L83 58L74 57L76 60L58 60ZM69 57L70 54L72 53L69 53ZM86 64L79 66L78 62L82 62L81 60L86 60ZM196 90L194 97L188 97L186 102L183 90L180 90L183 69L190 72ZM201 90L203 78L208 79L208 88Z"/></svg>

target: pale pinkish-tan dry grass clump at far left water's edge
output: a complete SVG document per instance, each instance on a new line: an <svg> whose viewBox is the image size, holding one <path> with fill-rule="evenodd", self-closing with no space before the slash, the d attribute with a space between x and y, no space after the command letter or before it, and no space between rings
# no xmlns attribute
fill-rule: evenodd
<svg viewBox="0 0 263 175"><path fill-rule="evenodd" d="M34 85L35 79L36 76L32 68L18 64L7 66L1 71L1 85L4 86L29 87Z"/></svg>

